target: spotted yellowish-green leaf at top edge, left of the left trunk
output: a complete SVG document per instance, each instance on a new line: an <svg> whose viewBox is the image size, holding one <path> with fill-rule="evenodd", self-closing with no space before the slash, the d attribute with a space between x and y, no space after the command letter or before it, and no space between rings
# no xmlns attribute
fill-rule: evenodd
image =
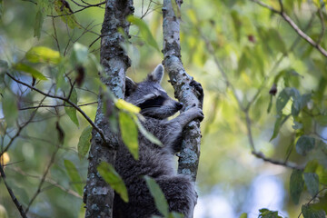
<svg viewBox="0 0 327 218"><path fill-rule="evenodd" d="M60 15L64 24L68 25L69 28L74 29L74 27L79 27L76 17L72 15L73 11L67 1L55 0L54 10L58 15Z"/></svg>

